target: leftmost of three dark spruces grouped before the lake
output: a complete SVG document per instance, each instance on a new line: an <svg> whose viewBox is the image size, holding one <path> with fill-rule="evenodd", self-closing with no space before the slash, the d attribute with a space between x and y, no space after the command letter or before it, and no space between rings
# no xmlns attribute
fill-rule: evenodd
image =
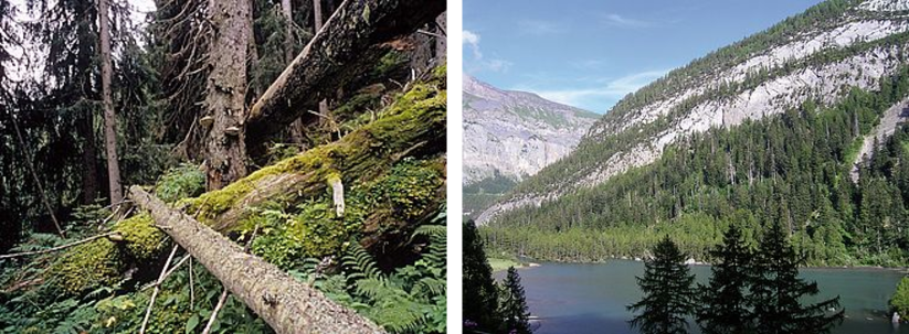
<svg viewBox="0 0 909 334"><path fill-rule="evenodd" d="M695 277L669 235L656 244L653 252L654 257L644 263L644 277L637 278L644 299L628 306L630 311L642 312L630 323L644 334L687 333L685 316L695 311Z"/></svg>

